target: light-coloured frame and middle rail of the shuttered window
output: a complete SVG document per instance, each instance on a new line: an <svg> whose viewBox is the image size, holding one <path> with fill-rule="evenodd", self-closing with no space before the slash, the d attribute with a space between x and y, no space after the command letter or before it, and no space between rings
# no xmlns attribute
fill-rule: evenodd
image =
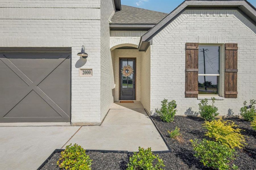
<svg viewBox="0 0 256 170"><path fill-rule="evenodd" d="M223 58L223 44L207 44L207 43L199 43L198 44L198 51L199 51L199 48L200 46L217 46L219 47L219 74L198 74L198 79L199 79L199 76L218 76L218 94L198 94L198 96L200 97L203 97L203 96L212 96L212 97L215 97L215 96L222 96L222 58ZM199 64L199 56L198 56L198 64ZM199 69L199 68L198 68Z"/></svg>

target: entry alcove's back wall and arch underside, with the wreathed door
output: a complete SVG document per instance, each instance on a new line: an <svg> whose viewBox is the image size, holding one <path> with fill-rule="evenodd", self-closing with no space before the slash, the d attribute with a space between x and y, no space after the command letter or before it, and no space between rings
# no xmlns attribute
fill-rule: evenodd
<svg viewBox="0 0 256 170"><path fill-rule="evenodd" d="M141 99L141 55L136 44L118 44L111 48L113 62L115 89L114 100ZM122 74L124 67L126 74ZM128 71L129 70L129 71Z"/></svg>

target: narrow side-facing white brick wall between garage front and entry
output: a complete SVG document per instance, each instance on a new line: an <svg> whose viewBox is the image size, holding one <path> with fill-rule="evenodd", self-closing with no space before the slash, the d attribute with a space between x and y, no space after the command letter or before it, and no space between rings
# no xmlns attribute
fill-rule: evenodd
<svg viewBox="0 0 256 170"><path fill-rule="evenodd" d="M110 44L109 18L114 14L112 0L101 0L101 120L113 104L112 89L115 87Z"/></svg>

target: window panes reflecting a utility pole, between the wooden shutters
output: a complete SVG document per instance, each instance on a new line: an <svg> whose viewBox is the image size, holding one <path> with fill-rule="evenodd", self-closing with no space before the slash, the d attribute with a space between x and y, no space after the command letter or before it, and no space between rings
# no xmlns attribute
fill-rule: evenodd
<svg viewBox="0 0 256 170"><path fill-rule="evenodd" d="M219 95L220 46L199 46L198 94Z"/></svg>

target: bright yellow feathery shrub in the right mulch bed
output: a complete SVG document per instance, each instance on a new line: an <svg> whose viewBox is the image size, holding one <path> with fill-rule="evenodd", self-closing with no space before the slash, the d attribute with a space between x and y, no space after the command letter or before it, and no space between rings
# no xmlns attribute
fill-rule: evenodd
<svg viewBox="0 0 256 170"><path fill-rule="evenodd" d="M222 119L205 121L203 128L207 129L205 136L214 138L217 142L230 148L242 148L245 143L241 129L232 121L224 121Z"/></svg>

